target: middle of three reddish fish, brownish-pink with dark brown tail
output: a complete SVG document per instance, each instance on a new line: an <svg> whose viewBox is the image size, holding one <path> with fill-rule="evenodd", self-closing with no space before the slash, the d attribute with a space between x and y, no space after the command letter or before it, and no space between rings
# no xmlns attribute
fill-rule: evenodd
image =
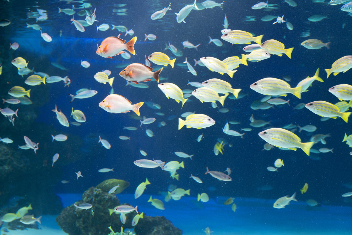
<svg viewBox="0 0 352 235"><path fill-rule="evenodd" d="M120 76L127 81L134 82L147 82L150 78L154 78L156 82L159 82L159 73L163 68L158 71L152 72L153 68L140 63L133 63L127 66L124 70L120 72Z"/></svg>

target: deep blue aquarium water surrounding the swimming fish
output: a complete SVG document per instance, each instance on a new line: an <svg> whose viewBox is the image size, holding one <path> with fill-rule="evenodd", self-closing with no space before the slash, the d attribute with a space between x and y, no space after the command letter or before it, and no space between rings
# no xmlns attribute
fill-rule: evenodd
<svg viewBox="0 0 352 235"><path fill-rule="evenodd" d="M85 1L87 2L87 1ZM331 64L338 58L350 55L348 45L351 44L351 22L350 16L346 12L340 11L341 5L327 5L325 3L314 3L311 1L296 1L298 6L291 7L282 1L271 1L269 4L277 4L278 9L273 11L252 10L251 6L257 1L225 1L222 8L214 7L201 11L193 10L185 19L185 23L177 23L176 15L181 8L190 1L171 2L172 10L159 20L151 20L153 12L161 10L169 5L168 1L89 1L96 7L97 25L106 23L110 25L107 31L96 32L95 24L86 27L85 32L79 32L74 25L71 25L71 16L64 13L57 13L58 7L71 8L81 3L64 1L2 1L0 4L1 17L11 20L11 24L1 27L0 34L2 46L0 47L0 60L2 62L2 75L0 92L2 98L10 98L7 91L13 86L22 86L26 90L31 89L30 99L32 105L7 105L0 107L10 107L13 110L19 109L18 118L15 118L14 126L8 122L7 117L1 117L0 136L11 138L14 142L7 144L6 148L12 154L19 154L25 162L25 166L12 166L11 171L5 171L8 162L0 160L3 174L1 182L4 188L0 193L1 215L13 212L8 211L10 199L19 196L24 197L26 203L37 205L33 213L37 216L42 214L59 214L61 205L53 210L44 206L48 198L55 194L81 195L89 187L96 186L100 182L110 178L123 179L130 182L130 186L118 195L122 203L136 204L133 198L136 187L145 181L147 177L151 185L147 186L148 194L158 194L168 190L170 184L185 190L191 189L191 197L184 197L180 201L172 201L165 204L165 211L152 210L151 206L145 206L148 215L163 215L170 219L176 227L184 231L184 234L201 234L202 230L210 227L214 234L220 234L221 228L226 227L228 233L238 234L269 234L279 231L310 234L348 234L352 229L350 226L351 214L348 213L351 206L349 198L341 197L342 194L351 191L348 188L352 183L350 179L351 169L351 149L342 143L345 132L352 133L350 123L345 123L341 118L329 119L325 122L320 120L320 116L315 115L308 109L294 110L299 103L309 103L315 100L325 100L330 103L337 103L339 100L328 92L328 88L337 84L348 84L350 73L339 73L337 76L330 75L326 79L324 69L331 68ZM114 4L126 4L126 6L114 6ZM51 42L45 42L40 38L40 31L26 28L26 23L36 24L35 18L27 18L36 9L45 9L48 13L48 20L39 21L43 32L52 37ZM127 15L119 16L114 9L127 9ZM81 9L76 9L76 12ZM212 56L224 60L230 56L240 56L245 53L242 48L246 45L231 45L220 39L222 24L226 14L230 24L229 29L244 30L258 35L264 35L262 42L268 39L276 39L285 45L285 48L294 47L292 58L286 55L279 57L271 55L269 59L260 62L248 62L248 66L239 65L237 72L231 79L227 74L220 75L211 72L206 67L194 67L198 75L193 76L187 71L187 67L180 67L177 63L199 60L201 57ZM294 25L294 30L288 30L285 24L272 25L272 21L264 22L260 20L265 15L282 16ZM319 22L310 22L308 17L314 14L327 16ZM253 16L256 21L244 21L246 16ZM75 19L84 19L77 14ZM125 60L120 55L112 59L100 57L95 53L96 44L109 36L117 36L119 32L112 29L114 25L125 25L128 29L134 30L134 35L121 38L129 41L137 36L134 46L136 55L131 55L129 60ZM344 27L342 27L344 24ZM59 31L62 30L62 36ZM310 31L309 37L300 37L301 32ZM144 33L153 33L157 36L155 41L144 42ZM215 44L208 44L208 36L218 38L222 41L222 47ZM318 50L308 50L300 44L304 40L315 38L323 42L331 41L331 48L321 48ZM199 50L182 47L183 41L190 41L193 44L201 44ZM19 49L8 50L8 44L17 42ZM170 50L165 49L165 43L170 42L179 50L182 50L182 57L175 57ZM241 88L240 94L245 95L241 99L226 99L225 106L229 109L227 113L220 113L218 109L213 109L210 103L200 103L195 97L190 97L181 109L181 104L175 100L167 99L157 87L155 81L147 82L147 89L140 89L132 86L125 86L126 81L119 76L119 72L130 63L145 62L145 55L161 51L176 58L175 67L164 67L161 77L167 78L179 86L181 89L195 89L187 85L188 81L203 82L211 78L218 78L230 82L232 87ZM28 62L28 67L36 72L44 72L50 76L69 76L71 84L64 87L63 82L52 84L40 84L38 86L28 86L23 81L24 78L17 74L11 61L16 57L23 57ZM89 68L80 67L81 60L90 63ZM51 62L62 64L67 70L53 67ZM191 62L193 66L193 62ZM118 66L116 68L115 66ZM159 69L151 63L151 67ZM252 110L250 105L255 100L260 100L264 95L252 89L250 85L259 79L273 77L282 79L283 76L290 76L288 83L291 87L307 76L313 76L316 69L320 68L319 76L324 82L315 81L313 87L309 87L308 92L302 93L302 99L288 94L281 97L290 99L290 106L275 106L275 109ZM93 75L99 71L109 69L115 77L113 88L115 94L120 94L129 99L133 104L144 101L140 108L141 117L154 117L156 121L152 124L142 125L140 121L131 118L132 112L113 114L102 110L98 104L109 94L111 87L108 84L98 83ZM163 80L165 81L165 80ZM163 82L162 81L162 82ZM78 89L91 88L98 91L98 94L87 99L75 99L70 103L68 94L75 94ZM152 109L146 102L159 104L160 110ZM81 110L87 121L81 126L62 126L55 118L55 113L51 110L58 109L69 118L71 108ZM221 104L217 102L220 107ZM206 129L194 129L185 127L177 130L178 117L184 112L203 113L215 120L215 125ZM162 112L164 116L158 116L155 112ZM270 125L263 128L253 128L250 124L250 116L255 119L270 121ZM31 118L32 117L32 118ZM237 120L240 124L230 124L230 129L240 131L240 128L252 128L246 132L244 138L229 136L222 132L226 121ZM165 126L159 126L160 122L166 122ZM278 148L270 151L262 151L266 143L258 136L260 131L270 127L282 128L284 125L293 123L300 126L315 125L315 132L302 131L295 132L302 142L309 142L312 135L330 134L327 137L327 144L317 143L313 146L319 148L334 148L334 153L311 153L308 157L301 149L297 151L284 151ZM123 130L123 126L136 126L138 130ZM145 135L146 128L153 131L154 136ZM50 135L65 134L68 140L65 142L52 142ZM201 142L196 138L203 134ZM111 144L111 149L105 149L98 143L99 135ZM131 140L120 140L119 136L124 135ZM37 155L33 150L17 149L17 145L24 145L23 136L28 136L33 142L39 142ZM224 154L214 155L213 148L218 138L223 138L232 147L225 145ZM0 143L0 145L5 145ZM147 156L142 156L139 150L147 152ZM2 150L4 151L4 150ZM187 154L194 154L193 160L177 157L174 152L183 151ZM2 152L4 153L4 152ZM55 153L60 157L51 167L51 159ZM278 169L278 172L268 172L266 167L273 166L276 159L283 159L285 166ZM163 172L160 168L148 169L139 168L133 164L138 159L161 159L162 161L184 161L185 168L177 171L180 179L169 178L168 172ZM10 160L13 161L14 160ZM210 170L225 171L230 167L232 181L224 182L212 178L210 175L203 175L206 166ZM98 169L113 168L114 172L100 173ZM76 180L75 172L81 171L83 178ZM203 184L196 183L190 179L190 174L200 177ZM26 180L27 179L27 180ZM68 184L60 183L61 180L68 180ZM305 183L309 188L306 193L301 194L300 189ZM271 190L260 190L261 186L270 185ZM210 189L210 190L209 190ZM209 202L204 203L204 208L195 208L194 197L198 193L207 193ZM291 202L291 205L284 209L272 208L276 199L287 194L292 195L297 192L298 202ZM38 196L39 195L39 196ZM219 205L214 198L235 197L238 206L237 211L231 211L230 206ZM160 197L161 199L162 197ZM191 198L191 199L190 199ZM240 198L240 199L239 199ZM258 198L258 199L248 199ZM142 200L145 199L145 200ZM137 199L139 206L148 199L142 196ZM308 199L318 202L316 207L308 207L305 203ZM78 200L78 199L75 199ZM9 202L9 203L7 203ZM63 207L74 203L74 200L63 199ZM217 204L216 204L217 203ZM166 205L171 205L169 208ZM24 205L18 205L24 206ZM222 207L221 207L222 206ZM192 209L192 221L197 228L191 231L192 225L182 228L188 218L185 217L184 210ZM216 207L216 212L212 210ZM7 209L4 209L7 208ZM40 208L40 209L39 209ZM148 211L148 208L150 211ZM179 210L181 209L181 210ZM210 211L209 211L210 210ZM214 209L215 210L215 209ZM204 217L202 217L204 216ZM314 218L314 221L312 220ZM216 220L215 220L216 219ZM334 223L333 223L334 222ZM332 225L327 225L333 223ZM195 230L195 231L194 231Z"/></svg>

